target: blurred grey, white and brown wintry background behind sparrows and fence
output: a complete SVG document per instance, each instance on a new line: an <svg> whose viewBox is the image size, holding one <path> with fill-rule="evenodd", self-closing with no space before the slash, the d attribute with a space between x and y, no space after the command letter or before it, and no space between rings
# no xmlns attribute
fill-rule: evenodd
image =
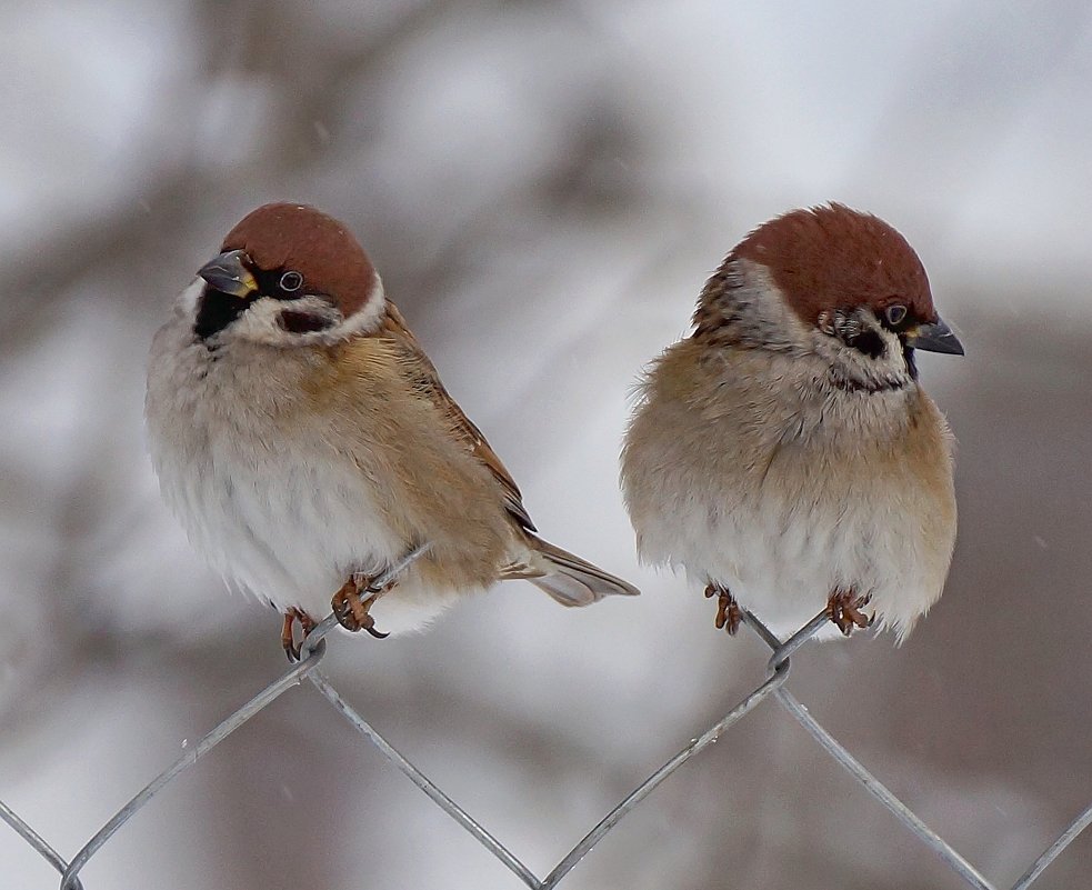
<svg viewBox="0 0 1092 890"><path fill-rule="evenodd" d="M639 568L617 491L631 384L753 226L836 199L923 258L964 359L922 356L960 441L946 594L902 648L793 691L1009 886L1092 798L1092 9L103 0L0 33L0 799L71 857L284 669L168 514L152 331L227 230L318 204L367 247L551 540L638 582L513 582L327 669L540 874L764 674L749 633ZM56 874L0 826L3 883ZM309 688L172 783L89 890L514 888ZM1036 883L1092 882L1092 837ZM564 882L953 888L772 702Z"/></svg>

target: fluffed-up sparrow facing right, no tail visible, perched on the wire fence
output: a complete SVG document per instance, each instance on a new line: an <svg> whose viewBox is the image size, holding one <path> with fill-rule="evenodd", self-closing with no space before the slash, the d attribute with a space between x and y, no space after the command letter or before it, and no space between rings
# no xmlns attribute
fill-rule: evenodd
<svg viewBox="0 0 1092 890"><path fill-rule="evenodd" d="M743 609L782 638L825 609L820 638L874 619L905 639L955 544L919 349L963 354L886 222L830 203L754 229L638 384L621 481L641 559L703 584L730 633Z"/></svg>

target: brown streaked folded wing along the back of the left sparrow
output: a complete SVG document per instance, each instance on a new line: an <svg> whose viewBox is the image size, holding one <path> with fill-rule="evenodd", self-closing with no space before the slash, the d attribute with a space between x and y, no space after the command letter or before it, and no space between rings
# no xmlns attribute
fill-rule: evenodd
<svg viewBox="0 0 1092 890"><path fill-rule="evenodd" d="M453 429L465 441L474 457L485 464L493 474L493 478L500 483L504 492L504 507L508 512L519 522L521 528L528 531L534 531L534 523L531 521L531 517L528 516L527 508L523 507L523 496L520 493L515 481L501 462L501 459L497 457L497 452L485 441L482 431L474 426L473 421L463 413L455 400L448 394L448 391L443 388L443 383L440 382L440 376L437 373L435 367L429 360L424 350L421 349L413 332L405 326L405 319L398 311L398 307L390 302L390 300L387 301L383 327L378 332L378 336L388 337L398 344L404 356L401 364L410 386L432 401L451 421Z"/></svg>

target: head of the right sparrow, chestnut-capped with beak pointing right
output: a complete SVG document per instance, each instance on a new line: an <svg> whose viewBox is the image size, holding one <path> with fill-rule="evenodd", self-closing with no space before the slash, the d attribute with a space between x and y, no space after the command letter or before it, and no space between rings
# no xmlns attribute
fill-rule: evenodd
<svg viewBox="0 0 1092 890"><path fill-rule="evenodd" d="M694 324L712 342L817 353L840 383L866 390L916 379L914 349L963 354L906 239L839 203L748 234L705 284Z"/></svg>

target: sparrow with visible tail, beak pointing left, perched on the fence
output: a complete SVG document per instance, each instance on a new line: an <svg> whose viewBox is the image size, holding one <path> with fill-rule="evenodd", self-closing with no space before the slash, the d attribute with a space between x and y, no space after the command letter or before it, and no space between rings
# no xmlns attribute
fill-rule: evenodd
<svg viewBox="0 0 1092 890"><path fill-rule="evenodd" d="M387 636L377 621L420 628L499 580L563 606L638 593L538 537L368 254L314 208L266 204L228 233L152 340L144 407L168 504L229 588L282 612L290 659L295 623L331 608Z"/></svg>

